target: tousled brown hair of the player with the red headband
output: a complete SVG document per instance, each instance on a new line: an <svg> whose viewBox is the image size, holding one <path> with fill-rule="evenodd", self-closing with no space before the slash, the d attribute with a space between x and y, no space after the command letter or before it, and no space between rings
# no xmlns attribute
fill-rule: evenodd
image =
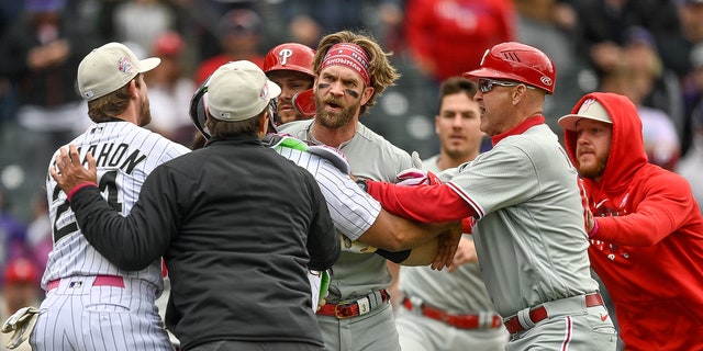
<svg viewBox="0 0 703 351"><path fill-rule="evenodd" d="M356 34L350 31L341 31L330 34L320 41L317 45L317 52L312 61L312 70L319 72L322 59L327 54L330 47L339 43L352 43L360 46L369 57L369 73L371 76L371 87L373 87L373 94L371 99L361 106L359 114L364 114L367 107L376 104L376 97L383 93L387 87L392 87L395 80L400 78L400 73L391 66L388 57L393 55L392 53L384 53L380 45L378 45L370 35Z"/></svg>

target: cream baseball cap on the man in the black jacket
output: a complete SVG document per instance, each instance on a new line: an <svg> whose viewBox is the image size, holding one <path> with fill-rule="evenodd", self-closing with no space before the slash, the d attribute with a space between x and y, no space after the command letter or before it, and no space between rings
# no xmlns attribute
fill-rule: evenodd
<svg viewBox="0 0 703 351"><path fill-rule="evenodd" d="M220 121L245 121L261 113L280 93L281 88L256 64L239 60L222 65L212 73L205 104Z"/></svg>

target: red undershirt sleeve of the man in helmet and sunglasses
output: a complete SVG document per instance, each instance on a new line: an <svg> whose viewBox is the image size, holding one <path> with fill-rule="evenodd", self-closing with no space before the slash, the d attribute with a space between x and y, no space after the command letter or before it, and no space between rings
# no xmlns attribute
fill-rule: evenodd
<svg viewBox="0 0 703 351"><path fill-rule="evenodd" d="M383 208L403 218L422 223L461 220L476 211L447 184L403 186L367 180L368 193Z"/></svg>

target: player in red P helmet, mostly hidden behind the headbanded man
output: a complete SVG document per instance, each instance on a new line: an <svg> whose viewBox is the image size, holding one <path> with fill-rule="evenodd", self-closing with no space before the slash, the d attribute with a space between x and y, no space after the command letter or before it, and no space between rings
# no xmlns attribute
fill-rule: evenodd
<svg viewBox="0 0 703 351"><path fill-rule="evenodd" d="M276 100L276 125L313 117L298 111L293 105L293 98L312 88L315 76L312 71L314 56L315 50L298 43L278 45L266 55L264 72L281 87L281 94Z"/></svg>

